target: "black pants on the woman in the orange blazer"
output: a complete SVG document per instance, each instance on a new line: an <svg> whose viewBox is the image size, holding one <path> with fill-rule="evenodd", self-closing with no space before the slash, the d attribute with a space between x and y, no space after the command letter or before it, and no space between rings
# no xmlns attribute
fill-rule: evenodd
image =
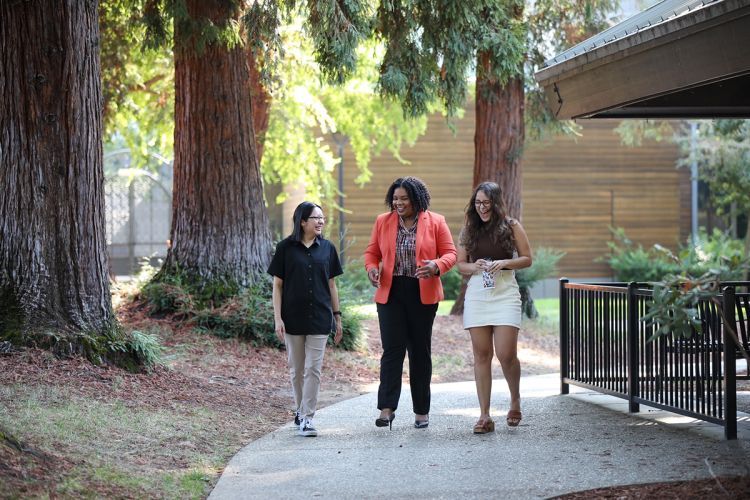
<svg viewBox="0 0 750 500"><path fill-rule="evenodd" d="M377 307L383 344L378 409L398 408L401 372L408 352L414 413L426 415L430 412L432 323L438 305L422 304L417 278L394 276L388 303Z"/></svg>

